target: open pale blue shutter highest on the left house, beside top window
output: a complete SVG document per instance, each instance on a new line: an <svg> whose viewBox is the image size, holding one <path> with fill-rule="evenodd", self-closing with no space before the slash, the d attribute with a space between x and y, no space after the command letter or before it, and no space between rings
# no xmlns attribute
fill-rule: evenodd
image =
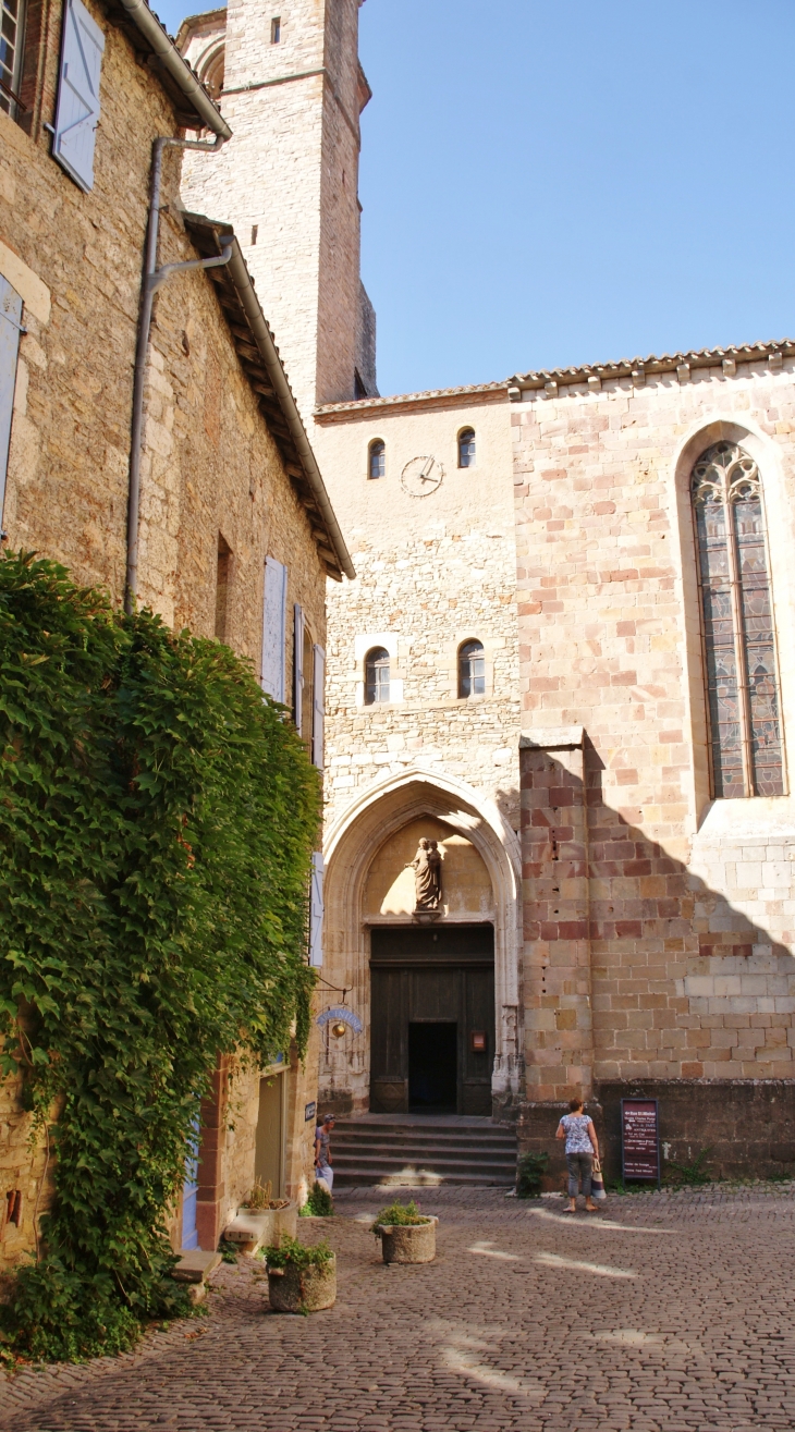
<svg viewBox="0 0 795 1432"><path fill-rule="evenodd" d="M95 133L105 36L80 0L66 0L53 158L85 189L95 186Z"/></svg>

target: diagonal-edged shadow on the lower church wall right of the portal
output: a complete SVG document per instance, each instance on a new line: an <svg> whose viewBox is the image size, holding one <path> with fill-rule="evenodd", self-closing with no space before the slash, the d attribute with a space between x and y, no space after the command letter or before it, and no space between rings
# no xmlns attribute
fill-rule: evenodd
<svg viewBox="0 0 795 1432"><path fill-rule="evenodd" d="M577 753L584 811L582 773L549 750L521 755L529 1065L553 1065L556 1048L559 1065L589 1063L570 998L583 974L572 951L584 944L590 1108L607 1177L620 1176L620 1100L632 1095L659 1098L669 1163L689 1164L709 1148L718 1176L792 1171L791 949L650 841L629 812L604 803L593 745ZM566 892L576 909L573 899L566 908ZM553 1154L549 1187L560 1186L554 1130L563 1111L562 1100L527 1103L519 1117L521 1150Z"/></svg>

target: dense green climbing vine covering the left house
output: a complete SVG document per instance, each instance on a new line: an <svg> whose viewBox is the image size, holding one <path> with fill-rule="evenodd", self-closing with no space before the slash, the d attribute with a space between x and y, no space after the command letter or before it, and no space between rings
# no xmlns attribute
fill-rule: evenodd
<svg viewBox="0 0 795 1432"><path fill-rule="evenodd" d="M309 1028L317 772L218 642L0 560L1 1071L54 1206L0 1309L6 1348L130 1346L180 1307L165 1219L219 1054Z"/></svg>

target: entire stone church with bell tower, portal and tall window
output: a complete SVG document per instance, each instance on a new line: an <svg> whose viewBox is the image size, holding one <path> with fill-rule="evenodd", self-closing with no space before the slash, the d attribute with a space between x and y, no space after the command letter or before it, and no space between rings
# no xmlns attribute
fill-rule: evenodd
<svg viewBox="0 0 795 1432"><path fill-rule="evenodd" d="M321 1008L362 1031L325 1024L321 1107L541 1148L577 1091L615 1158L632 1094L666 1157L792 1170L795 344L381 397L360 3L178 36L233 130L183 202L233 222L357 570Z"/></svg>

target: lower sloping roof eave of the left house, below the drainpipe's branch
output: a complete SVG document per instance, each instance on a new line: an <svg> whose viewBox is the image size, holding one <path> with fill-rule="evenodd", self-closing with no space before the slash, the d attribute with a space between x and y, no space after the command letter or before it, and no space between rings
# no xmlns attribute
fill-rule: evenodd
<svg viewBox="0 0 795 1432"><path fill-rule="evenodd" d="M183 213L182 218L202 258L222 252L221 238L226 242L233 238L235 231L231 223L206 219L202 213ZM215 284L241 367L256 395L259 411L281 453L298 501L307 513L318 556L335 581L341 581L342 574L352 579L354 564L301 421L279 349L259 306L236 239L229 263L208 269L206 274Z"/></svg>

